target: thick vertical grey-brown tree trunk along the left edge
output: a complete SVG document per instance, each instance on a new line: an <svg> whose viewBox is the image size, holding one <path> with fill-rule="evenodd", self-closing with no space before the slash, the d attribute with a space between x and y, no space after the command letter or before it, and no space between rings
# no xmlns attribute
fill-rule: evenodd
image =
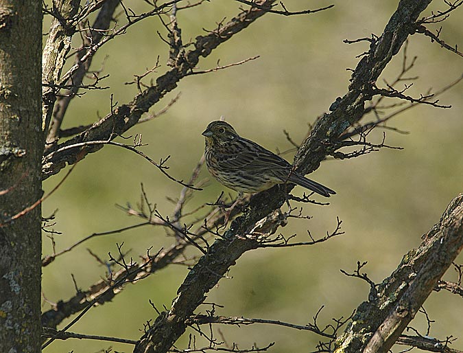
<svg viewBox="0 0 463 353"><path fill-rule="evenodd" d="M40 352L41 3L0 0L0 352Z"/></svg>

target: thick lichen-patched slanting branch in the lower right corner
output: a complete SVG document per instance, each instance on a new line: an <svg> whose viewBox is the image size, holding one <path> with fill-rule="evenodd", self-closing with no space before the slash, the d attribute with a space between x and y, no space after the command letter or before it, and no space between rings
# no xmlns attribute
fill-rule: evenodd
<svg viewBox="0 0 463 353"><path fill-rule="evenodd" d="M388 352L463 247L463 194L409 251L399 267L362 303L335 352Z"/></svg>

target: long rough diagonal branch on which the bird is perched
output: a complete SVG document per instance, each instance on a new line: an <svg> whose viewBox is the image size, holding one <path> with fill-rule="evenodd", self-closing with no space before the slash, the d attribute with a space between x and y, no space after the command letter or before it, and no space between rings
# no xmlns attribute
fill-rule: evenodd
<svg viewBox="0 0 463 353"><path fill-rule="evenodd" d="M325 114L314 126L296 155L296 166L307 174L315 170L329 154L329 145L355 124L364 113L364 102L370 99L370 82L375 81L392 56L396 55L409 36L420 12L431 0L402 0L392 15L384 33L372 45L368 55L361 59L353 72L348 93L332 106L332 113ZM278 218L272 218L275 210L287 198L290 187L272 187L251 198L244 215L233 221L222 239L216 240L206 255L193 266L183 284L178 288L178 297L171 309L162 312L136 345L134 352L167 352L186 329L185 321L204 301L217 282L246 251L259 247L259 241L252 236L256 223L265 223L263 228L275 231L280 225ZM268 216L270 215L270 216ZM263 220L265 218L265 220Z"/></svg>

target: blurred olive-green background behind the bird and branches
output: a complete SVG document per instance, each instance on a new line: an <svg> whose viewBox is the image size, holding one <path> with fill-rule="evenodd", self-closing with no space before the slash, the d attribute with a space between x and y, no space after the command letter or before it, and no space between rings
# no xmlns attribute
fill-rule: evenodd
<svg viewBox="0 0 463 353"><path fill-rule="evenodd" d="M165 115L136 126L126 135L143 134L143 142L148 144L143 152L154 160L171 155L169 173L186 180L202 155L204 141L200 134L209 122L221 115L238 133L270 150L292 147L283 130L300 143L309 124L328 111L337 96L346 93L351 75L346 68L355 68L359 60L355 56L368 50L365 42L346 45L342 41L369 37L372 33L380 35L398 1L368 4L339 0L285 1L289 10L313 9L331 3L335 4L334 8L318 14L263 16L221 45L209 58L202 59L199 68L215 67L217 60L226 65L257 55L259 59L183 79L176 90L152 109L152 113L159 111L181 92L180 100ZM136 12L147 10L143 1L128 1L127 5ZM211 1L179 12L184 42L204 34L203 28L213 30L217 22L224 18L228 21L239 12L239 6L234 1ZM426 14L444 9L443 2L434 1ZM443 23L441 36L451 45L462 44L461 14L462 10L457 11ZM47 32L47 23L49 19L45 21L44 32ZM106 115L110 94L114 94L119 104L130 102L136 87L124 82L154 67L157 56L162 67L147 80L155 80L168 69L165 66L168 48L156 31L166 37L159 19L146 19L99 50L93 67L98 69L108 56L104 73L110 77L103 84L110 89L89 91L82 98L75 98L63 128L91 124ZM78 46L78 41L74 45ZM418 56L414 69L407 75L419 76L409 90L409 95L415 97L430 88L438 90L446 86L463 72L461 57L419 34L410 37L408 56ZM379 86L384 86L383 80L392 82L401 65L402 54L399 54L378 80ZM350 315L367 299L369 288L365 282L342 275L340 269L351 272L357 260L368 261L365 271L372 280L381 282L396 268L404 253L418 246L420 236L439 220L449 201L462 192L462 94L463 84L459 84L440 96L440 103L451 104L451 109L421 105L394 118L388 125L409 134L386 131L386 143L405 150L382 149L357 159L322 163L310 177L333 188L337 195L330 199L329 206L300 205L304 214L313 218L294 219L281 231L285 236L299 234L301 241L307 237L307 229L314 237L321 237L333 231L339 216L346 234L311 247L246 253L230 270L231 278L221 280L206 299L224 305L217 314L303 325L312 320L320 306L325 306L318 318L321 326L333 323L332 318ZM380 143L382 130L370 137ZM293 155L285 158L292 161ZM47 179L45 192L63 175L61 172ZM209 178L206 170L201 172L200 179L204 178ZM150 163L112 146L88 155L43 204L44 216L58 209L54 229L62 235L55 238L57 251L93 232L138 223L138 219L126 216L115 204L136 205L140 199L140 183L159 212L171 214L174 205L167 197L178 197L181 186L168 180ZM203 191L195 192L185 211L215 201L222 190L229 192L216 181L209 181ZM303 191L296 187L294 193L301 195ZM173 241L160 227L90 240L43 269L43 293L49 301L67 300L75 293L71 273L84 290L106 277L106 268L97 264L86 248L107 260L108 251L117 253L116 242L124 242L123 249L131 249L130 255L137 260L147 248L153 247L155 252ZM43 254L49 253L51 242L44 236ZM195 251L189 254L198 255ZM171 265L136 285L129 284L111 303L90 310L70 331L139 339L143 323L156 318L148 299L158 308L169 308L187 271L185 266ZM453 270L447 275L455 280ZM436 320L431 328L432 337L445 339L463 332L461 298L444 292L433 293L425 308L431 319ZM206 309L210 307L201 306L198 312L204 313ZM49 310L45 301L43 310ZM68 322L64 321L63 326ZM418 315L412 326L425 328L423 315ZM270 352L311 352L319 340L316 334L281 327L217 328L228 344L236 342L240 348L250 348L253 343L263 347L276 341ZM222 339L217 331L216 337ZM186 348L187 342L185 334L176 346ZM463 349L461 338L453 346ZM56 341L45 352L98 352L110 347L118 352L133 349L130 345L68 340Z"/></svg>

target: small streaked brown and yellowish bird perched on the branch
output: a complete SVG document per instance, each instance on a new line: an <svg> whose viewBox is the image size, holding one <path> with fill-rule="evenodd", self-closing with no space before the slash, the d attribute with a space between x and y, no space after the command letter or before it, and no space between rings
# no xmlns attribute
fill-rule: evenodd
<svg viewBox="0 0 463 353"><path fill-rule="evenodd" d="M239 192L240 196L284 183L300 185L325 197L335 194L292 170L285 159L239 136L226 122L211 122L202 135L206 137L207 169L217 181Z"/></svg>

